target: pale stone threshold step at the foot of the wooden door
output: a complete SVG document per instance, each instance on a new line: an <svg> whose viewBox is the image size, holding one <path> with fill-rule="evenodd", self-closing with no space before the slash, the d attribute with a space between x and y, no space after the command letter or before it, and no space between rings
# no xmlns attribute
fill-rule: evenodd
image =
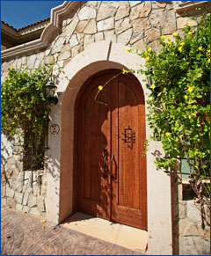
<svg viewBox="0 0 211 256"><path fill-rule="evenodd" d="M76 212L70 216L62 225L93 238L98 238L137 252L146 253L147 250L148 231L146 230L109 222L81 212Z"/></svg>

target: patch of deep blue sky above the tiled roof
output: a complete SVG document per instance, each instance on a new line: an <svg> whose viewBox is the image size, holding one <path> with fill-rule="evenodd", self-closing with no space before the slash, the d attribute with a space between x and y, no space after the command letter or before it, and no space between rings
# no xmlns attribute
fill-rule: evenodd
<svg viewBox="0 0 211 256"><path fill-rule="evenodd" d="M63 2L1 0L1 20L18 29L50 17L51 9Z"/></svg>

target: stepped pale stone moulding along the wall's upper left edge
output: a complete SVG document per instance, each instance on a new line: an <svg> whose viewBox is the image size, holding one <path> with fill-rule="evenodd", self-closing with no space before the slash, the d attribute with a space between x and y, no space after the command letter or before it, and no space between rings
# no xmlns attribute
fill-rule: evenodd
<svg viewBox="0 0 211 256"><path fill-rule="evenodd" d="M51 19L50 23L41 33L40 39L27 42L25 44L19 45L14 48L9 48L1 53L1 59L5 60L15 55L23 55L30 51L34 51L40 48L46 48L51 37L59 30L60 28L60 18L69 13L77 4L80 2L77 1L65 1L63 4L55 7L51 10Z"/></svg>

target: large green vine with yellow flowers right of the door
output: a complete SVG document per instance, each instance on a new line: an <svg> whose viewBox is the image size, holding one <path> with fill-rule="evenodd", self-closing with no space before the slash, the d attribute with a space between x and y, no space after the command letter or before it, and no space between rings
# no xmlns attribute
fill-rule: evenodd
<svg viewBox="0 0 211 256"><path fill-rule="evenodd" d="M161 36L159 52L148 48L139 54L147 61L138 72L153 82L147 84L149 125L162 138L167 156L156 157L156 165L174 168L177 157L187 156L195 179L209 176L209 22L204 14L196 28L186 26L183 36Z"/></svg>

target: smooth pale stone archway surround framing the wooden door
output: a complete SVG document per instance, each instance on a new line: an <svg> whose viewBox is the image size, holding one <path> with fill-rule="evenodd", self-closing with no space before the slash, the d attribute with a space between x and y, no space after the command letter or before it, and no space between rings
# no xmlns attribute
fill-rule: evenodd
<svg viewBox="0 0 211 256"><path fill-rule="evenodd" d="M48 220L62 223L74 212L74 108L78 91L84 82L98 71L140 69L143 62L138 55L125 52L124 45L100 41L91 44L65 66L64 71L69 80L61 75L58 88L59 104L52 109L52 120L49 123L51 125L56 122L60 125L61 134L48 135L48 156L52 159L52 164L48 165L47 170ZM146 77L140 74L135 74L135 77L142 84L147 100L148 89L146 82L142 81ZM149 138L149 135L150 129L146 123L146 137ZM162 152L161 143L150 142L147 153L149 254L171 254L171 180L164 172L157 172L154 164L156 150Z"/></svg>

